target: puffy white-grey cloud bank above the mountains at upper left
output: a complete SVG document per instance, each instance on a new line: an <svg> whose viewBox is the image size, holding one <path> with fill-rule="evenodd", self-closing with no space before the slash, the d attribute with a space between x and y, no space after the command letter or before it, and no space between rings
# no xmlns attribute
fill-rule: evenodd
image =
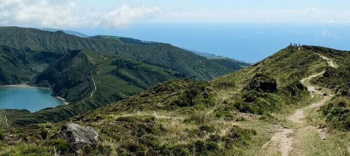
<svg viewBox="0 0 350 156"><path fill-rule="evenodd" d="M0 25L117 28L161 13L161 8L157 6L122 4L101 11L74 0L0 0Z"/></svg>

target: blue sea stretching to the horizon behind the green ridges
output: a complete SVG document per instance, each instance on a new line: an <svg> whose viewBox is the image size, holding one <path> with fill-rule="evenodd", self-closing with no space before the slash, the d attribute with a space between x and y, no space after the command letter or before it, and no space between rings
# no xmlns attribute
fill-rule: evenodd
<svg viewBox="0 0 350 156"><path fill-rule="evenodd" d="M350 24L335 23L157 23L119 29L80 28L87 35L117 35L170 43L254 63L292 43L350 50Z"/></svg>

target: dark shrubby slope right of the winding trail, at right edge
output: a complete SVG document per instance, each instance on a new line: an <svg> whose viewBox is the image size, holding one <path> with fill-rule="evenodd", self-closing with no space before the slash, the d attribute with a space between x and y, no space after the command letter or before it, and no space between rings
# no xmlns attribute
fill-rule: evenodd
<svg viewBox="0 0 350 156"><path fill-rule="evenodd" d="M328 67L326 72L315 77L311 83L322 87L332 88L337 95L329 104L322 107L323 116L326 117L325 126L338 130L350 130L350 52L338 51L323 47L310 47L335 62L335 67Z"/></svg>

